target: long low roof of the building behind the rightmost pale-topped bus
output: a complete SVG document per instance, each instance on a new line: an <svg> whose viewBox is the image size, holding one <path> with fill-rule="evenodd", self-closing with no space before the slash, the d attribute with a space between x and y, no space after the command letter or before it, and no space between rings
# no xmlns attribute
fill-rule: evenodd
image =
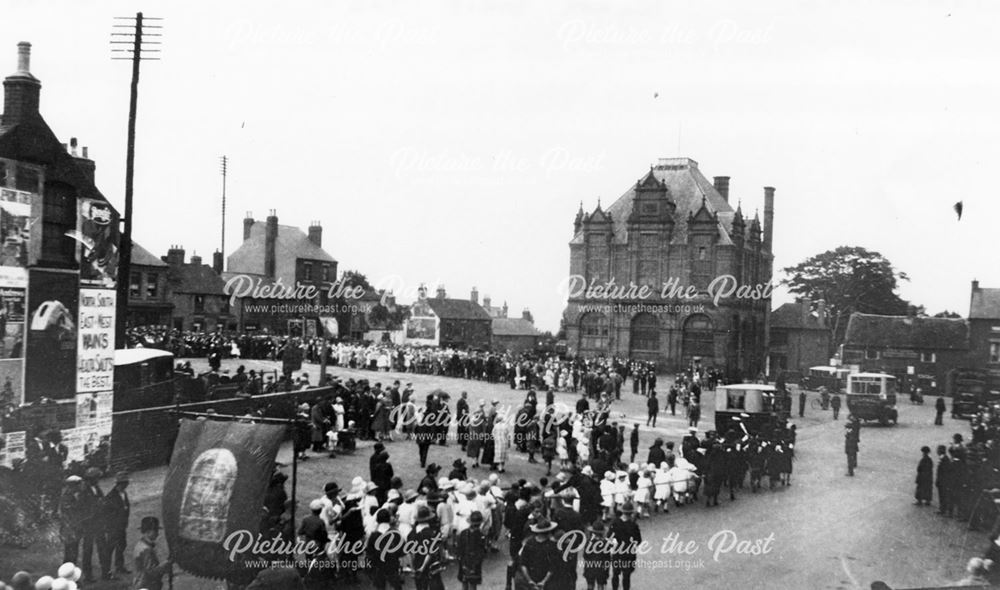
<svg viewBox="0 0 1000 590"><path fill-rule="evenodd" d="M967 350L969 323L964 319L851 314L846 346L924 350Z"/></svg>

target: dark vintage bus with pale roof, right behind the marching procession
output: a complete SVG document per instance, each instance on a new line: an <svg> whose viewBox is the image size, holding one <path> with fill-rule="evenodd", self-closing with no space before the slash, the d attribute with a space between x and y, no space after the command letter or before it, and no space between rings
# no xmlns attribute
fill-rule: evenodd
<svg viewBox="0 0 1000 590"><path fill-rule="evenodd" d="M771 432L788 419L791 397L773 385L740 383L715 390L715 430L724 435L742 422L747 432Z"/></svg>

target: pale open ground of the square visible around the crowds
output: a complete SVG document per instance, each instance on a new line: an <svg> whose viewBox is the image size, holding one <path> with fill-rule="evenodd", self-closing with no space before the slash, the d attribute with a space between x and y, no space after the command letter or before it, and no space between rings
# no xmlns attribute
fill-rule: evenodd
<svg viewBox="0 0 1000 590"><path fill-rule="evenodd" d="M194 361L203 369L203 361ZM240 363L226 361L225 368L235 369ZM247 369L273 368L273 363L244 362ZM318 367L306 366L312 380ZM470 401L499 398L502 404L520 403L523 391L511 391L504 385L464 381L424 375L373 374L333 368L334 374L365 377L383 384L394 378L414 382L416 392L423 394L442 388L453 395L469 392ZM665 389L665 387L661 387ZM643 398L629 389L622 401L613 408L628 419L645 424ZM572 403L572 394L557 394L557 401ZM641 521L644 539L651 550L640 559L633 576L633 588L663 587L665 581L678 588L868 588L875 580L884 580L891 587L933 586L954 582L962 577L965 561L978 553L985 544L984 533L968 532L963 524L936 515L936 508L913 505L913 488L919 448L945 443L954 432L966 433L968 423L946 418L946 425L932 425L934 399L923 406L911 406L905 398L900 405L899 425L895 427L865 426L861 432L861 453L857 476L845 476L843 453L843 421L832 422L829 412L806 409L806 416L796 417L799 437L792 485L788 488L750 494L745 490L735 502L725 499L717 508L692 505ZM701 426L711 428L712 393L703 396L706 407ZM797 411L797 400L796 400ZM641 427L641 449L649 446L655 436L678 441L686 424L669 412L661 413L654 431ZM845 414L841 415L841 419ZM367 459L371 443L363 443L351 457L327 459L317 457L300 464L300 506L319 495L328 480L346 486L355 475L367 477ZM422 475L416 461L416 446L410 442L387 445L396 473L406 487L414 485ZM288 463L290 448L286 445L279 461ZM457 446L433 447L430 460L445 466L460 456ZM640 458L644 458L641 452ZM517 478L536 480L544 475L544 465L529 465L519 453L511 453L511 463L505 481ZM133 479L132 517L158 514L159 492L163 468L135 474ZM485 477L484 470L471 470ZM470 475L471 475L470 473ZM300 509L299 515L302 511ZM134 527L132 527L134 528ZM726 533L731 531L732 533ZM672 536L673 535L673 536ZM710 544L713 535L716 542ZM738 542L771 538L764 545L769 551L759 555L737 554ZM695 548L693 554L664 552L664 539L677 540L674 547ZM689 545L692 541L694 544ZM669 544L669 543L668 543ZM165 550L165 549L164 549ZM719 551L715 555L716 550ZM483 588L502 588L503 554L489 557L485 565L486 584ZM454 568L447 573L449 588L454 587ZM177 588L201 590L216 588L213 583L179 575ZM583 581L580 581L580 587Z"/></svg>

